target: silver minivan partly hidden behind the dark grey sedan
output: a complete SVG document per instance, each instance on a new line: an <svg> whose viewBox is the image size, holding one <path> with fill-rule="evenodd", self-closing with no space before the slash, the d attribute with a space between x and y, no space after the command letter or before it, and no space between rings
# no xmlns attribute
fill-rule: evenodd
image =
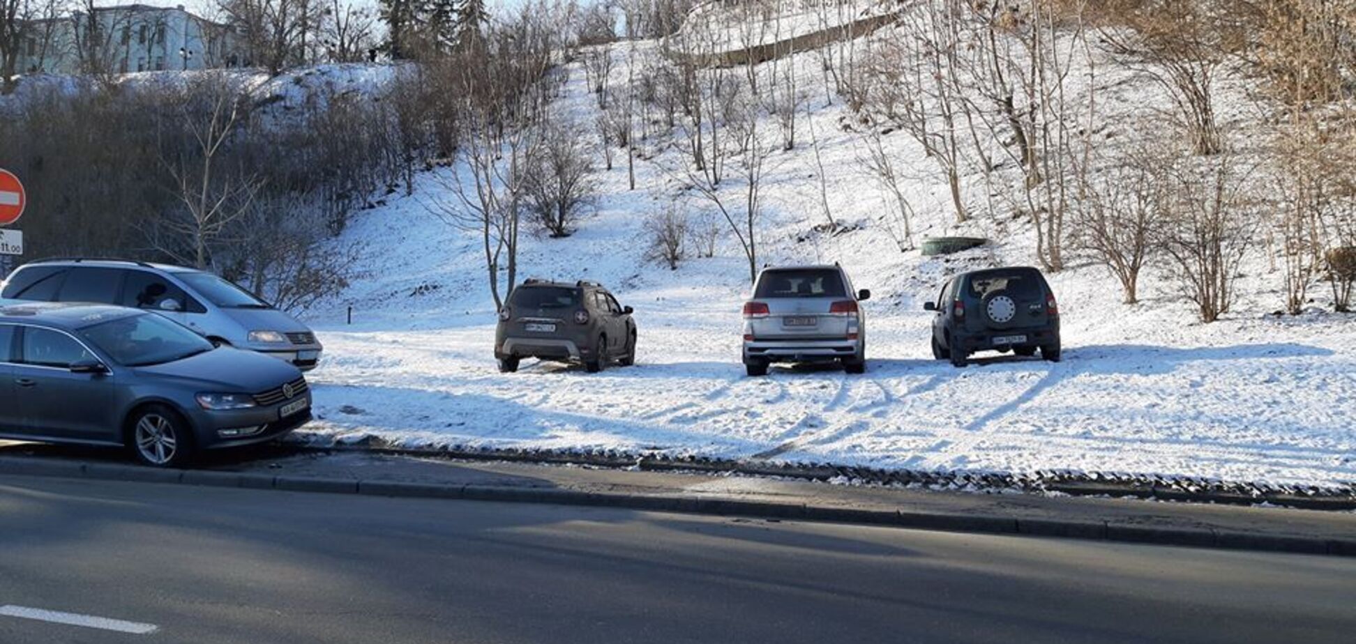
<svg viewBox="0 0 1356 644"><path fill-rule="evenodd" d="M309 371L316 335L294 317L212 273L108 259L45 259L9 274L4 300L115 304L155 310L217 346L270 355Z"/></svg>

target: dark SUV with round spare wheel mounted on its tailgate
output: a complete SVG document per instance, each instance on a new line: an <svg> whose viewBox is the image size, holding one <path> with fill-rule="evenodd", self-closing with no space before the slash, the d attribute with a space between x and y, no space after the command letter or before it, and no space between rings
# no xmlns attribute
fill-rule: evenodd
<svg viewBox="0 0 1356 644"><path fill-rule="evenodd" d="M975 351L1013 351L1059 361L1059 306L1045 277L1031 267L989 268L951 278L936 302L933 357L965 366Z"/></svg>

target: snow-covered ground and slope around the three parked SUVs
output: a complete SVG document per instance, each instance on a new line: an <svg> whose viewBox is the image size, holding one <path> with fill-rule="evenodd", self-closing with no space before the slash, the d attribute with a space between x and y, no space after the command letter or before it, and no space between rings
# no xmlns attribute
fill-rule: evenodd
<svg viewBox="0 0 1356 644"><path fill-rule="evenodd" d="M625 45L613 56L613 77L625 79ZM956 225L946 183L913 140L895 133L884 145L907 169L915 240L995 240L945 258L900 252L885 230L885 195L861 167L861 136L841 127L842 100L826 106L812 54L795 62L810 88L808 121L793 150L767 160L761 263L841 262L857 287L873 291L864 304L865 376L774 366L766 378L744 377L738 334L749 279L732 237L716 258L687 259L675 271L643 258L647 216L675 202L694 216L712 212L673 172L682 163L674 149L637 161L636 190L628 190L625 153L610 172L599 160L597 212L571 237L526 239L519 258L521 278L595 279L635 306L637 366L586 374L527 361L519 373L500 374L480 240L427 207L452 198L443 186L450 171L438 169L422 176L412 197L357 213L339 240L362 248L361 275L311 312L325 359L311 376L319 420L308 431L411 447L1356 481L1353 316L1318 304L1302 316L1271 315L1281 308L1280 277L1260 251L1245 264L1233 312L1218 323L1195 323L1192 305L1159 271L1147 273L1142 301L1127 306L1105 268L1075 262L1050 275L1063 313L1063 362L980 357L955 369L933 361L923 302L956 271L1033 264L1033 232L1024 218ZM1104 72L1098 83L1108 87L1111 113L1158 99L1144 80ZM555 108L591 123L597 104L587 89L572 66ZM1231 119L1245 104L1220 110L1224 127L1237 126ZM765 126L776 127L770 118ZM1125 117L1108 137L1153 126ZM594 134L590 127L580 136ZM843 232L816 229L824 221L820 163ZM983 201L979 193L968 198ZM1325 291L1314 289L1317 297Z"/></svg>

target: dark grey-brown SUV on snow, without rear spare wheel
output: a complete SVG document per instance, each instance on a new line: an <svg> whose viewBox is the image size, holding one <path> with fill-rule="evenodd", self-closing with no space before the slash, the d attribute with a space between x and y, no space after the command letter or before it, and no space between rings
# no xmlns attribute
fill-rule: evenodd
<svg viewBox="0 0 1356 644"><path fill-rule="evenodd" d="M529 279L509 294L495 329L499 370L517 371L523 358L582 362L589 373L613 359L636 363L632 308L617 304L597 282Z"/></svg>

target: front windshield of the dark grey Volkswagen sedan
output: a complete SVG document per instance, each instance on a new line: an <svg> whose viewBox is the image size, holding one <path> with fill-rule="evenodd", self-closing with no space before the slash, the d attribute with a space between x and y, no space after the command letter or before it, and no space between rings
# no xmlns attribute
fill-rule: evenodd
<svg viewBox="0 0 1356 644"><path fill-rule="evenodd" d="M210 342L156 313L92 324L80 335L123 366L161 365L212 351Z"/></svg>

